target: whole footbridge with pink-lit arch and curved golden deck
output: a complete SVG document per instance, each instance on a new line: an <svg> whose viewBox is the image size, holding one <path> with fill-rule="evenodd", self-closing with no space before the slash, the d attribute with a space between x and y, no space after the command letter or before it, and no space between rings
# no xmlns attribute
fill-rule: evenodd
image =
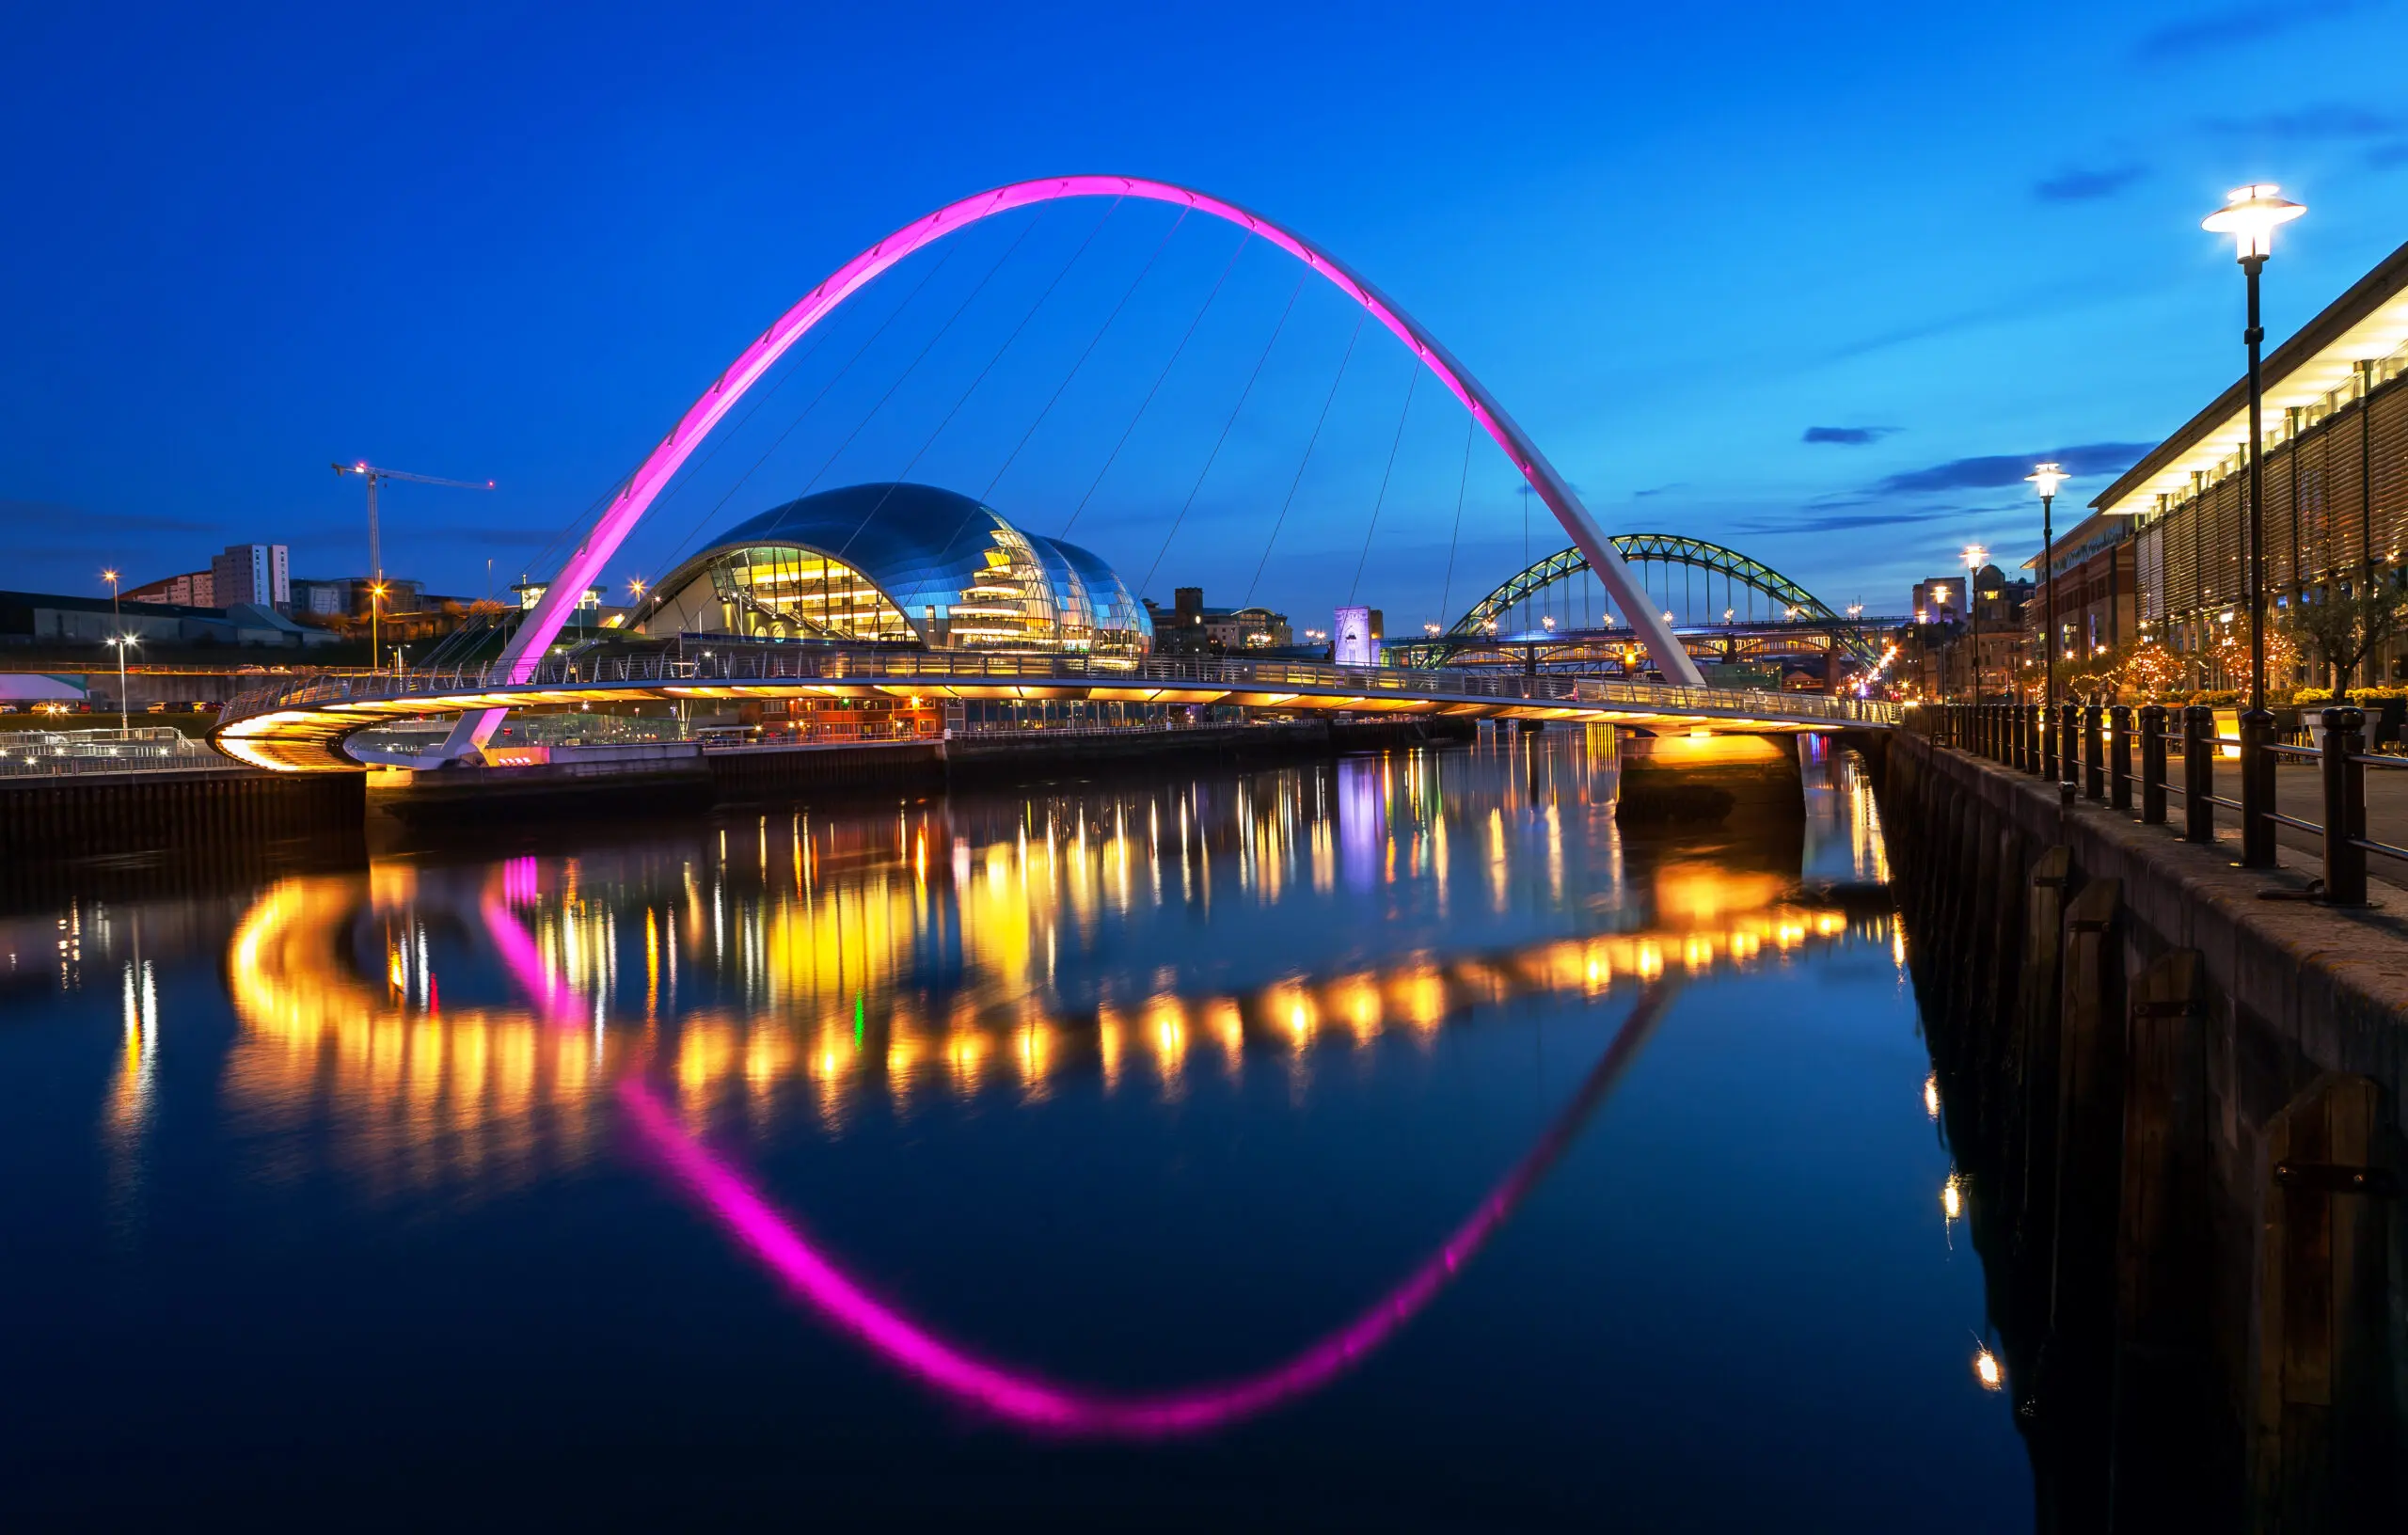
<svg viewBox="0 0 2408 1535"><path fill-rule="evenodd" d="M734 404L783 358L807 332L826 320L872 279L958 229L982 219L1072 197L1112 197L1163 202L1187 214L1221 219L1305 265L1308 274L1329 281L1401 339L1416 363L1469 411L1474 428L1505 450L1522 484L1570 534L1580 568L1597 577L1609 601L1623 614L1628 645L1645 652L1664 683L1597 681L1563 676L1498 678L1474 671L1430 666L1411 657L1411 666L1312 666L1296 662L1165 662L1125 654L1028 654L982 630L958 645L958 630L944 633L937 606L913 611L881 592L884 606L896 606L896 633L910 633L917 652L838 652L795 657L643 657L609 659L554 654L554 640L600 580L604 563L636 529L643 515L669 488L669 481L720 426ZM1298 279L1303 281L1303 279ZM1416 375L1418 378L1418 375ZM879 498L884 505L884 496ZM1002 522L997 517L997 522ZM1009 527L992 534L1004 546ZM1028 539L1031 563L1043 558ZM843 549L799 549L826 570L843 561ZM1055 549L1072 556L1067 546ZM999 549L990 561L1009 561ZM850 575L850 570L848 570ZM982 577L973 577L978 585ZM1519 577L1517 577L1519 580ZM1548 577L1551 580L1551 577ZM1760 589L1763 582L1755 582ZM956 592L958 611L973 609L973 589ZM1820 604L1818 604L1820 606ZM349 734L390 719L453 715L445 741L421 753L414 765L433 768L484 748L510 710L573 710L597 703L691 700L691 698L961 698L961 700L1098 700L1141 705L1247 705L1283 712L1435 712L1507 719L1580 719L1633 722L1649 727L1719 727L1739 731L1830 731L1845 727L1890 727L1885 705L1837 698L1796 698L1789 693L1743 693L1707 688L1688 647L1674 633L1671 614L1633 575L1623 551L1582 505L1577 491L1539 452L1539 445L1505 414L1498 399L1411 315L1356 277L1341 260L1300 236L1190 188L1125 176L1067 176L1023 180L905 224L869 250L838 267L804 294L727 371L696 399L660 445L636 467L600 510L559 573L544 582L542 597L510 633L501 657L482 669L414 671L397 678L301 678L236 700L212 736L222 751L246 763L289 772L359 770L366 763L342 743Z"/></svg>

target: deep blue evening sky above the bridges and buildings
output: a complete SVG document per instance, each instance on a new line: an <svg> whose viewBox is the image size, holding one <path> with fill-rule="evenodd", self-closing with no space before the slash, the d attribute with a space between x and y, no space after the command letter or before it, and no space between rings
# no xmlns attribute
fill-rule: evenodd
<svg viewBox="0 0 2408 1535"><path fill-rule="evenodd" d="M482 589L486 558L510 580L862 245L982 185L1129 171L1344 255L1611 527L1729 541L1900 611L1967 539L2030 551L2028 460L2119 469L2230 383L2239 274L2199 231L2225 188L2280 180L2312 207L2268 272L2278 337L2408 238L2408 7L2384 0L566 17L12 12L0 585L99 589L104 561L142 580L229 539L354 573L361 493L332 457L496 479L395 491L385 563L433 589ZM901 310L934 253L891 274L614 577L657 575L722 498L720 524L799 493L896 380L816 484L925 450L917 479L982 491L1168 224L1115 209L1067 267L1103 212L1057 209L1019 248L1019 224L963 236ZM997 486L1007 515L1069 522L1230 245L1170 241ZM1235 599L1262 563L1351 330L1327 294L1298 301L1197 472L1291 289L1274 253L1238 260L1079 512L1072 537L1132 582L1158 570L1156 597ZM1399 433L1404 387L1401 349L1368 332L1257 597L1308 621L1356 589L1397 630L1519 563L1510 469L1483 448L1462 472L1435 392Z"/></svg>

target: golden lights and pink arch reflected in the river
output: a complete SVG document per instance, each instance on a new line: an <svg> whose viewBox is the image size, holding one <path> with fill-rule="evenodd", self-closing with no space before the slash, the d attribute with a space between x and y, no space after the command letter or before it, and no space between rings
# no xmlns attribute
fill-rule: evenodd
<svg viewBox="0 0 2408 1535"><path fill-rule="evenodd" d="M891 820L790 811L568 859L289 878L229 943L226 1095L323 1121L371 1196L508 1191L592 1157L616 1119L790 1292L944 1393L1047 1432L1206 1429L1327 1383L1421 1311L1570 1145L1674 984L1893 946L1878 890L1801 883L1792 847L1623 847L1584 755L1524 746L1481 777L1495 765L1413 753ZM1845 873L1881 869L1861 784L1832 794L1825 844ZM1483 857L1457 866L1450 844ZM149 1059L132 986L128 970L125 1102ZM1329 1049L1428 1049L1483 1011L1616 991L1630 1015L1582 1090L1428 1261L1283 1364L1185 1393L980 1359L703 1145L797 1114L843 1133L864 1102L910 1114L929 1092L1038 1104L1069 1075L1175 1102L1250 1056L1310 1092Z"/></svg>

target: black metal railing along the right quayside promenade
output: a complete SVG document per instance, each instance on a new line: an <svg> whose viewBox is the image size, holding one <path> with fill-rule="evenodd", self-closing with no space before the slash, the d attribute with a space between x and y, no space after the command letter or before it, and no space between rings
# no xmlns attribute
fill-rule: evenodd
<svg viewBox="0 0 2408 1535"><path fill-rule="evenodd" d="M2179 729L2167 729L2174 722ZM2266 712L2242 712L2237 734L2218 734L2215 710L2206 705L1924 705L1907 724L1941 746L1972 751L2020 772L2056 782L2071 804L2076 794L2133 808L2143 825L2167 823L2170 763L2182 763L2182 840L2215 842L2215 811L2239 818L2242 866L2276 866L2276 828L2288 825L2324 842L2319 900L2341 907L2367 905L2367 854L2408 864L2408 847L2367 835L2367 768L2408 770L2408 758L2367 751L2367 715L2357 707L2321 712L2319 746L2288 746ZM2131 748L2141 746L2141 770L2131 770ZM2179 758L2167 748L2179 748ZM2225 751L2230 748L2230 758ZM2235 760L2242 775L2239 799L2215 792L2218 760ZM2324 818L2285 816L2276 804L2276 768L2283 760L2314 763Z"/></svg>

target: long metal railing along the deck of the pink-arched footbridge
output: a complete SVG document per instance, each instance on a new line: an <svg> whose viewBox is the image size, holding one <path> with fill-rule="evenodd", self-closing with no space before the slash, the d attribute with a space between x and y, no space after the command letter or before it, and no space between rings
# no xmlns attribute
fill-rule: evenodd
<svg viewBox="0 0 2408 1535"><path fill-rule="evenodd" d="M836 652L725 657L549 657L520 681L501 666L453 666L378 676L296 676L253 688L226 703L222 722L323 703L424 698L429 710L460 710L462 695L549 688L718 686L778 681L927 681L942 683L1081 683L1098 688L1226 688L1283 691L1322 688L1365 698L1435 695L1459 700L1512 700L1544 705L1628 705L1669 715L1767 717L1893 727L1900 705L1816 693L1760 693L1743 688L1678 688L1584 676L1479 674L1409 666L1332 666L1320 662L1105 662L1088 657L1031 657L975 652Z"/></svg>

